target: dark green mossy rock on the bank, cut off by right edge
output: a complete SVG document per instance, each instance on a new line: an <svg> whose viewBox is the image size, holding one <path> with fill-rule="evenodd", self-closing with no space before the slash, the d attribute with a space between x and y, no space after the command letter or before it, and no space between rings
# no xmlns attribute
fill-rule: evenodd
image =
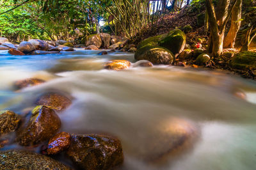
<svg viewBox="0 0 256 170"><path fill-rule="evenodd" d="M256 69L256 52L239 52L231 59L230 65L232 68L239 70L244 70L246 68Z"/></svg>

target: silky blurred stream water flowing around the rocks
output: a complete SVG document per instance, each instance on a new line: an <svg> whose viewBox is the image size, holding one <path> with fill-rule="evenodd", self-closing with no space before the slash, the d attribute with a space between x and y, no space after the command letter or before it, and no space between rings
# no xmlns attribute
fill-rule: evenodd
<svg viewBox="0 0 256 170"><path fill-rule="evenodd" d="M79 50L44 56L10 56L0 51L0 109L22 113L45 91L74 99L58 115L65 132L118 137L124 149L120 169L255 169L256 83L223 72L177 66L102 69L109 59L134 54ZM22 91L13 82L37 77L47 82ZM237 97L245 94L246 99ZM184 150L170 150L173 128L192 132ZM189 131L189 132L190 132ZM170 141L171 140L171 141ZM13 146L14 147L14 146ZM183 148L183 146L180 146Z"/></svg>

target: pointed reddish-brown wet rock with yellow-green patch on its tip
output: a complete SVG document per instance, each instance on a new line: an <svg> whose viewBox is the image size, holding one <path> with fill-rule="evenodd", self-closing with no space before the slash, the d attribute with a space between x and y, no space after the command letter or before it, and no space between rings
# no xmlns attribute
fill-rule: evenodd
<svg viewBox="0 0 256 170"><path fill-rule="evenodd" d="M50 139L58 132L61 121L53 109L38 105L33 109L29 122L17 132L16 141L22 146L31 146Z"/></svg>

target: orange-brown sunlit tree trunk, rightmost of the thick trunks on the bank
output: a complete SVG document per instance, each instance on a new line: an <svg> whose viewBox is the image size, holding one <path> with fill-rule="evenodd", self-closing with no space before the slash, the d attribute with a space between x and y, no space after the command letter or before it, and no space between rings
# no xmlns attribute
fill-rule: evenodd
<svg viewBox="0 0 256 170"><path fill-rule="evenodd" d="M234 48L237 32L241 26L241 16L242 16L242 2L243 0L237 0L234 10L231 16L231 26L228 31L227 36L224 38L223 46L225 48Z"/></svg>

